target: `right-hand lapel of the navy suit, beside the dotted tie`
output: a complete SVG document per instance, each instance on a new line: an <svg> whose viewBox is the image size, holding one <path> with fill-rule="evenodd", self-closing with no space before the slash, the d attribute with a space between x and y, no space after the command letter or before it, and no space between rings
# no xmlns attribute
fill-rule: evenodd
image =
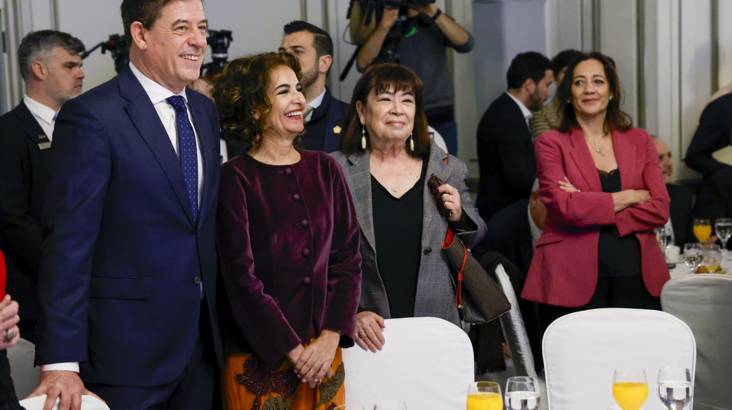
<svg viewBox="0 0 732 410"><path fill-rule="evenodd" d="M213 187L215 186L215 168L220 166L219 156L215 155L216 144L219 141L216 136L212 135L212 129L206 121L206 113L203 112L201 105L195 102L195 97L191 94L193 92L189 90L187 92L188 107L190 107L193 126L201 144L201 159L203 160L203 193L201 194L201 205L199 206L200 211L198 215L198 224L201 224L201 221L214 208L214 200L216 199Z"/></svg>

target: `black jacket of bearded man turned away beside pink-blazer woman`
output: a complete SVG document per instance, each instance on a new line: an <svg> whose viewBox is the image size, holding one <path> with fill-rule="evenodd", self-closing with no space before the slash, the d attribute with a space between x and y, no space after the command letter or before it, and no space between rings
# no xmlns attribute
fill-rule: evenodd
<svg viewBox="0 0 732 410"><path fill-rule="evenodd" d="M478 124L480 185L477 208L488 221L498 210L528 198L537 175L531 131L516 102L501 94Z"/></svg>

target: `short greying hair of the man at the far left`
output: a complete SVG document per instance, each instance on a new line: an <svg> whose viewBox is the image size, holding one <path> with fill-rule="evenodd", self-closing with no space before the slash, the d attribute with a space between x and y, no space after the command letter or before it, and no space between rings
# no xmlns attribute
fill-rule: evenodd
<svg viewBox="0 0 732 410"><path fill-rule="evenodd" d="M54 47L61 47L72 56L78 56L86 50L84 43L71 34L56 30L31 31L26 37L23 37L20 47L18 47L20 77L28 80L34 61L43 61L43 64L47 66L51 64L48 58Z"/></svg>

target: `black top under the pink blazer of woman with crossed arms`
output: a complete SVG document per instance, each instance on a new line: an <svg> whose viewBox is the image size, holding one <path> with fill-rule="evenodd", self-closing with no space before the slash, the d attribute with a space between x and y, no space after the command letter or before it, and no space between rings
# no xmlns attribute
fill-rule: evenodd
<svg viewBox="0 0 732 410"><path fill-rule="evenodd" d="M621 191L617 168L610 172L597 172L600 172L603 192ZM621 238L615 225L602 227L597 244L597 276L635 276L641 272L641 243L635 234Z"/></svg>

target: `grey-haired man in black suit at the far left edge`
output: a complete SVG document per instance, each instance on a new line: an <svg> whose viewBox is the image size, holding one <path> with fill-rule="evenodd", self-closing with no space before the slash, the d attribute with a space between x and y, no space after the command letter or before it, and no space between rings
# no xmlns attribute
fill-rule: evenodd
<svg viewBox="0 0 732 410"><path fill-rule="evenodd" d="M7 292L20 303L20 333L35 343L41 207L48 183L56 113L81 94L84 45L70 34L34 31L18 48L23 101L0 117L0 249L7 258Z"/></svg>

